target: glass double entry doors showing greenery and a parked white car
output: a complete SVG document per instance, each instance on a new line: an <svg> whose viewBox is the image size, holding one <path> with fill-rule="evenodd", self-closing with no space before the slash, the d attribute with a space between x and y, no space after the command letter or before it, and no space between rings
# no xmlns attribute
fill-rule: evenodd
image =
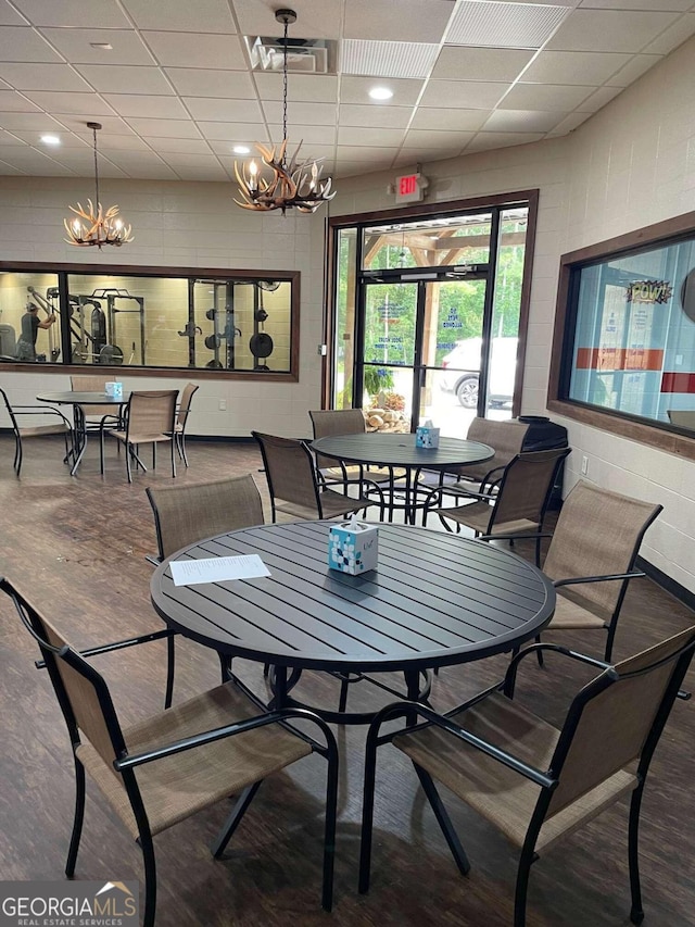
<svg viewBox="0 0 695 927"><path fill-rule="evenodd" d="M370 427L409 431L431 419L443 436L466 435L478 409L485 299L484 276L364 284L358 380Z"/></svg>

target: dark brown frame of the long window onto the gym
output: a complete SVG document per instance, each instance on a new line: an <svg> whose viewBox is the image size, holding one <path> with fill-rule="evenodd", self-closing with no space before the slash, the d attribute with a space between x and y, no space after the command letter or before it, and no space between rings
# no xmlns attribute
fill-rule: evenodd
<svg viewBox="0 0 695 927"><path fill-rule="evenodd" d="M55 274L58 277L58 286L61 292L61 304L65 300L67 292L67 278L71 274L88 274L104 276L129 276L129 277L176 277L184 280L198 280L201 278L215 278L218 280L239 280L239 279L260 279L260 280L280 280L289 283L291 288L290 299L290 368L289 371L228 371L225 368L210 367L160 367L160 366L138 366L138 365L118 365L110 366L106 364L73 364L67 362L41 362L27 363L26 361L5 361L0 366L0 373L64 373L79 374L86 369L99 369L103 373L119 374L123 376L134 377L151 377L155 375L161 378L180 379L181 374L187 372L194 379L226 379L226 380L254 380L268 383L299 383L300 380L300 296L301 296L301 273L300 271L256 271L256 270L232 270L210 268L210 267L172 267L172 266L149 266L135 264L78 264L78 263L55 263L55 262L38 262L38 261L0 261L0 273L46 273ZM61 352L61 356L67 356Z"/></svg>

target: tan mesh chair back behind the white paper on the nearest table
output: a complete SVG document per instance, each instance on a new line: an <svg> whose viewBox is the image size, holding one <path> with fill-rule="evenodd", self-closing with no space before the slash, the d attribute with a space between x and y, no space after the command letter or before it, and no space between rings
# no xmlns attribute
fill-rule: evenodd
<svg viewBox="0 0 695 927"><path fill-rule="evenodd" d="M214 535L263 524L263 504L251 474L146 491L160 560Z"/></svg>

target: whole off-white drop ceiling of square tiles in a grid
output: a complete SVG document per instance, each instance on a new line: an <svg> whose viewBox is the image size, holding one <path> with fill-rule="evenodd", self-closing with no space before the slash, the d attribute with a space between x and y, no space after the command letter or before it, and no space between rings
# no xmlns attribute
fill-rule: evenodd
<svg viewBox="0 0 695 927"><path fill-rule="evenodd" d="M232 178L233 145L281 139L281 75L244 36L282 5L0 0L0 174L90 176L97 120L105 177ZM564 135L695 34L695 0L290 5L290 38L338 47L337 73L289 76L290 146L337 177Z"/></svg>

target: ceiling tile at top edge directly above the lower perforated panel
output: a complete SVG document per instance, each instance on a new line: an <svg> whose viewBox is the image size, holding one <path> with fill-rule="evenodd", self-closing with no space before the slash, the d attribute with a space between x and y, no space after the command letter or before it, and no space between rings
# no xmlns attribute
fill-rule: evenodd
<svg viewBox="0 0 695 927"><path fill-rule="evenodd" d="M442 0L350 0L345 4L348 39L382 39L403 42L440 42L452 4Z"/></svg>

